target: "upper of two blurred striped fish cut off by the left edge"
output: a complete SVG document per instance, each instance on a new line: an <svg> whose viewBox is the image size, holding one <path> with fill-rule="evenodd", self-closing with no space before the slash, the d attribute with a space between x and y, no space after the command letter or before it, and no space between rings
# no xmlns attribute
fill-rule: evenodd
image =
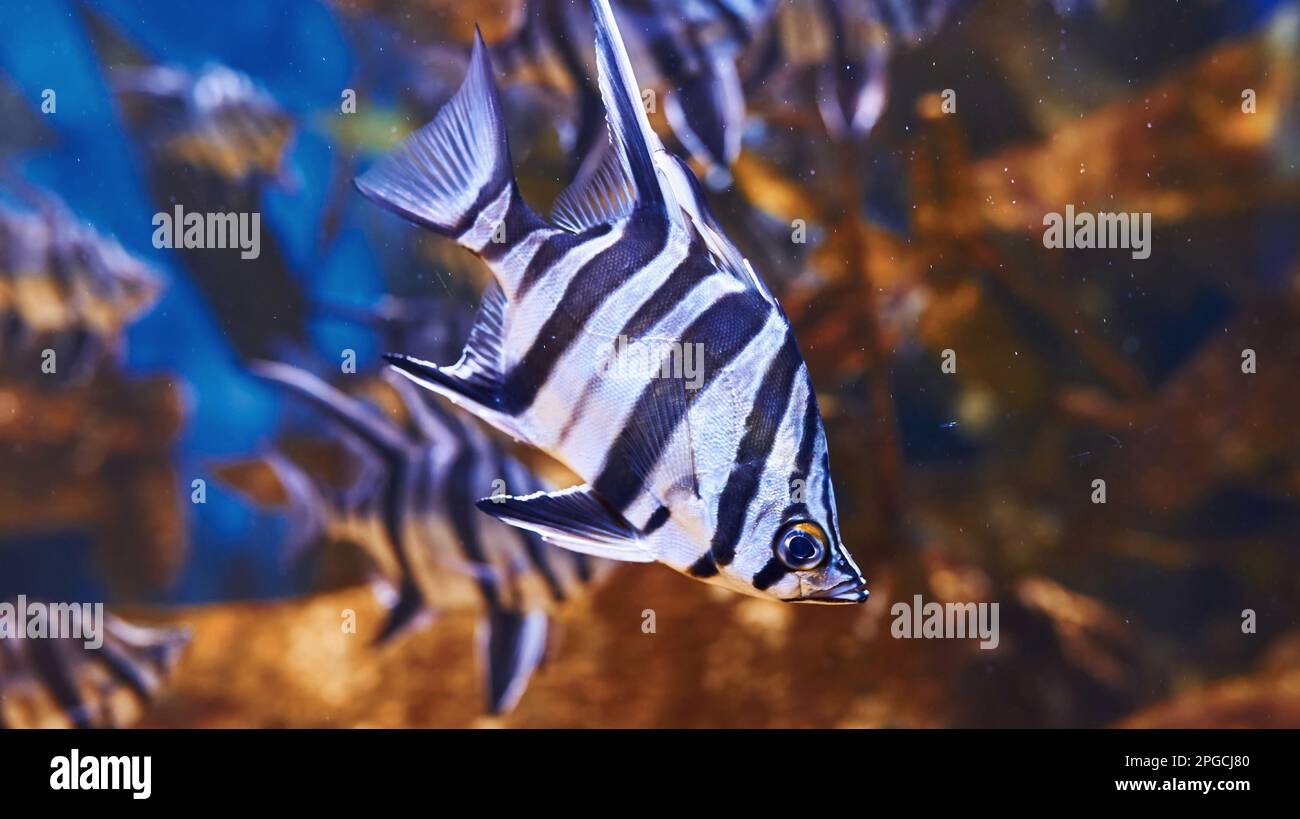
<svg viewBox="0 0 1300 819"><path fill-rule="evenodd" d="M35 212L0 208L0 373L77 381L116 358L124 329L157 300L161 278L66 205L29 191Z"/></svg>

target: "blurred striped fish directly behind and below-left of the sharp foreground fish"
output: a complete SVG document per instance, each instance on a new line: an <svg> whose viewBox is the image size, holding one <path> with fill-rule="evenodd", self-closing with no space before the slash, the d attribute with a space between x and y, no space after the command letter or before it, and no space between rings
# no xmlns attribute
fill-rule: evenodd
<svg viewBox="0 0 1300 819"><path fill-rule="evenodd" d="M547 546L480 514L474 502L485 491L504 495L507 489L530 493L541 486L472 421L426 399L406 380L393 376L391 384L413 429L287 364L257 363L254 372L339 425L365 467L338 491L287 458L269 459L295 517L291 551L302 554L322 538L365 550L389 607L378 642L415 630L433 606L481 607L488 706L493 714L511 711L542 659L549 614L584 593L611 564Z"/></svg>

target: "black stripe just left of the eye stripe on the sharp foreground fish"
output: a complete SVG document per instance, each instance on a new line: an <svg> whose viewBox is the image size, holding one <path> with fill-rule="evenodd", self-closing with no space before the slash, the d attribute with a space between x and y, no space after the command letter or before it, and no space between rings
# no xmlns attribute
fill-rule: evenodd
<svg viewBox="0 0 1300 819"><path fill-rule="evenodd" d="M736 559L736 543L763 478L767 456L790 403L794 376L801 364L794 334L786 330L785 342L763 373L749 417L745 419L745 436L736 448L731 474L727 476L727 485L718 500L718 526L714 529L710 551L720 566L728 566Z"/></svg>

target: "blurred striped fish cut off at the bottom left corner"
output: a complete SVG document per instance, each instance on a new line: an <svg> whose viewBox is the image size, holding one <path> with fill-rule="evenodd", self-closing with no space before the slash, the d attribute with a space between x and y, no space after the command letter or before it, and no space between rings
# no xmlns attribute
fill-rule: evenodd
<svg viewBox="0 0 1300 819"><path fill-rule="evenodd" d="M104 645L0 637L0 728L112 728L133 722L165 684L186 629L104 616Z"/></svg>

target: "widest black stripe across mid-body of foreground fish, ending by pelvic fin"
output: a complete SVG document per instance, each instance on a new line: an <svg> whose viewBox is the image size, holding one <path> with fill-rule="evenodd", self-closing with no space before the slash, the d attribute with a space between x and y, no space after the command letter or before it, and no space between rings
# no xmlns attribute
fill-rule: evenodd
<svg viewBox="0 0 1300 819"><path fill-rule="evenodd" d="M682 343L703 343L710 355L711 360L702 368L702 384L699 389L684 390L680 378L650 380L592 485L606 503L619 512L632 506L689 406L758 334L770 311L767 302L751 290L729 292L682 333ZM651 417L655 422L646 424Z"/></svg>

